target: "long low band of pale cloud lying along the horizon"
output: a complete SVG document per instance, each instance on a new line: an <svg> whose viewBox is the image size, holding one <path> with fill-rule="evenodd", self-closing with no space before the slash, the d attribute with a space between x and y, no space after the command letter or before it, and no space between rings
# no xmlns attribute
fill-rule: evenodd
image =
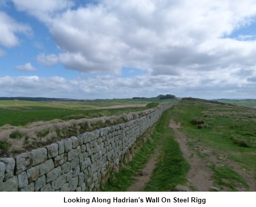
<svg viewBox="0 0 256 207"><path fill-rule="evenodd" d="M154 97L159 94L174 94L186 97L191 94L197 98L253 98L256 87L255 68L242 70L184 71L181 76L142 75L134 78L120 78L114 75L79 77L20 76L0 77L0 96L62 97L76 99L113 99L132 97ZM243 74L243 75L241 75ZM31 90L33 88L33 90Z"/></svg>

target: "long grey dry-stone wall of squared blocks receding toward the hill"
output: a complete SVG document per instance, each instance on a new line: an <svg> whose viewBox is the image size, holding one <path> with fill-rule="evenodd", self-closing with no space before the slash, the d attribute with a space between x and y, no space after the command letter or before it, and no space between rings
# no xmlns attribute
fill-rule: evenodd
<svg viewBox="0 0 256 207"><path fill-rule="evenodd" d="M137 138L171 107L86 132L16 157L0 158L0 191L93 191Z"/></svg>

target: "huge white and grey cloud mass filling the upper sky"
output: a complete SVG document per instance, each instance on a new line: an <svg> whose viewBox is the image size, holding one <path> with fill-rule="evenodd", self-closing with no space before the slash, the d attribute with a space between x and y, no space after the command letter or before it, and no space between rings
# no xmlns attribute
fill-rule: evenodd
<svg viewBox="0 0 256 207"><path fill-rule="evenodd" d="M102 0L72 10L68 0L13 2L46 22L63 51L60 62L72 70L118 74L126 66L177 75L182 67L214 70L233 60L247 64L240 50L254 56L256 41L248 51L245 41L224 38L251 24L254 0Z"/></svg>

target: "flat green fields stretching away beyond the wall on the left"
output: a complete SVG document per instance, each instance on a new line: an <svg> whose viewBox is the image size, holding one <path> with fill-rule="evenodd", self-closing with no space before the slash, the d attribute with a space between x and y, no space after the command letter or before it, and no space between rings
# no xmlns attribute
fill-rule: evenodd
<svg viewBox="0 0 256 207"><path fill-rule="evenodd" d="M165 101L175 103L177 101ZM133 111L145 110L148 107L126 107L115 109L97 109L116 105L127 104L148 104L153 101L142 99L119 99L119 100L100 100L100 101L0 101L0 127L5 124L12 126L25 126L35 121L50 121L54 119L70 120L81 118L97 118L112 116ZM90 109L90 110L87 110Z"/></svg>

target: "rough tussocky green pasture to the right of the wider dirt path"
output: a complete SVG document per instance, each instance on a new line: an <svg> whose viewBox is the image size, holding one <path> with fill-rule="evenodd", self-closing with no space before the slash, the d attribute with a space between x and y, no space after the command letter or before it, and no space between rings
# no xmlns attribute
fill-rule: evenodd
<svg viewBox="0 0 256 207"><path fill-rule="evenodd" d="M256 110L197 100L181 100L171 110L172 119L181 123L180 130L190 140L190 147L210 147L220 163L223 158L231 159L256 178ZM195 120L200 124L195 124ZM232 168L216 168L212 165L211 169L214 171L215 183L220 188L225 186L236 191L232 184L234 181L248 188Z"/></svg>

